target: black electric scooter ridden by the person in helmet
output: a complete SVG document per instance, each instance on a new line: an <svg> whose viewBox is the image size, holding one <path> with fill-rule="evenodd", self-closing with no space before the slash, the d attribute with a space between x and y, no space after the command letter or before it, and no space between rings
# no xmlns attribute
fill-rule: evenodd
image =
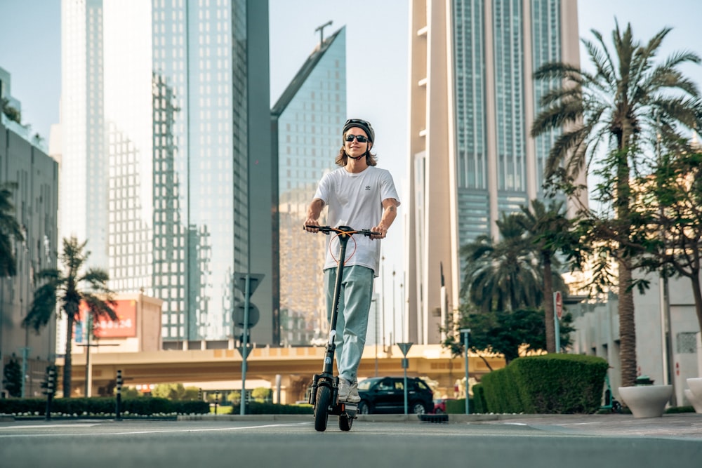
<svg viewBox="0 0 702 468"><path fill-rule="evenodd" d="M314 429L319 432L326 430L326 423L329 415L338 415L339 429L350 431L353 420L358 411L357 403L338 401L339 377L333 375L334 337L336 337L336 318L338 316L339 297L341 295L341 281L344 272L344 262L346 258L346 244L354 234L363 236L378 235L369 229L355 230L348 226L307 226L319 229L324 234L329 235L336 232L340 241L338 267L336 268L336 283L334 285L334 295L331 305L331 322L329 323L329 340L327 340L324 354L324 366L321 374L314 374L312 377L312 392L308 403L314 406Z"/></svg>

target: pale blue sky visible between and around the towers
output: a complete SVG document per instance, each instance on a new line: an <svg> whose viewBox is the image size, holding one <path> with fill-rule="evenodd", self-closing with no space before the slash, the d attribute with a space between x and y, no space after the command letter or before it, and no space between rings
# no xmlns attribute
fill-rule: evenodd
<svg viewBox="0 0 702 468"><path fill-rule="evenodd" d="M661 57L677 51L702 55L700 11L696 0L580 0L578 35L594 39L590 30L595 29L611 46L615 18L622 29L630 23L642 42L672 27ZM0 67L11 73L11 95L22 103L22 123L48 141L59 116L60 0L0 0L0 18ZM406 201L409 0L270 0L271 105L319 42L315 29L329 20L325 36L346 26L348 116L372 123L378 166L390 170ZM585 58L581 48L581 66L587 68ZM701 65L683 71L702 87ZM402 206L383 246L385 307L398 311L404 299L401 216Z"/></svg>

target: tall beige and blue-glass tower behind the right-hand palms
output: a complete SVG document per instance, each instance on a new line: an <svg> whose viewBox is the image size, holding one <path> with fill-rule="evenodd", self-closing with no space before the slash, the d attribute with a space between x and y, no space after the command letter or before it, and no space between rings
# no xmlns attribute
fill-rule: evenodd
<svg viewBox="0 0 702 468"><path fill-rule="evenodd" d="M576 1L413 0L406 290L411 340L436 343L458 308L458 250L541 198L556 135L534 140L534 71L579 65Z"/></svg>

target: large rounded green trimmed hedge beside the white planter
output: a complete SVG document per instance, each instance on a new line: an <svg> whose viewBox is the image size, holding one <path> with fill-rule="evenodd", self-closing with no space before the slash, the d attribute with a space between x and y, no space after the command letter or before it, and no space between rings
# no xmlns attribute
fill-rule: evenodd
<svg viewBox="0 0 702 468"><path fill-rule="evenodd" d="M595 413L602 404L608 367L600 357L580 354L515 359L482 377L486 412Z"/></svg>

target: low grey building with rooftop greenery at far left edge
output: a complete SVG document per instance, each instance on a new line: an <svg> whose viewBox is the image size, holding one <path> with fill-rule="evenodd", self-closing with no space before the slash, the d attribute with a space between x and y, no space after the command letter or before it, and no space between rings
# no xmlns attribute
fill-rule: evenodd
<svg viewBox="0 0 702 468"><path fill-rule="evenodd" d="M15 275L0 276L0 398L8 396L12 387L11 382L2 382L4 368L11 361L26 376L20 393L13 396L29 398L41 396L46 366L55 359L55 319L39 333L23 327L22 321L39 286L34 275L56 267L58 164L29 136L28 127L14 120L19 115L14 111L21 112L22 105L11 95L11 74L2 68L0 99L12 108L0 111L0 186L15 184L10 202L24 236L23 241L10 238Z"/></svg>

